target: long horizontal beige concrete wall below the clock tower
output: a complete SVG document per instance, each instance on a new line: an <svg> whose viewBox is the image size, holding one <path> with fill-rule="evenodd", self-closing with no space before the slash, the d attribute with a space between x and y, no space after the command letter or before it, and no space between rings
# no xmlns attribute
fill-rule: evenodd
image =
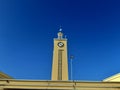
<svg viewBox="0 0 120 90"><path fill-rule="evenodd" d="M0 80L0 89L120 90L120 82Z"/></svg>

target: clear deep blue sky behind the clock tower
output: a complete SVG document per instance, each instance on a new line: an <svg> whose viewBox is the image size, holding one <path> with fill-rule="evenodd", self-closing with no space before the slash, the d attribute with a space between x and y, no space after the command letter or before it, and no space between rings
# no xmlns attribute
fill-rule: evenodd
<svg viewBox="0 0 120 90"><path fill-rule="evenodd" d="M50 80L60 26L68 57L75 57L74 80L100 81L120 72L119 0L0 0L0 71Z"/></svg>

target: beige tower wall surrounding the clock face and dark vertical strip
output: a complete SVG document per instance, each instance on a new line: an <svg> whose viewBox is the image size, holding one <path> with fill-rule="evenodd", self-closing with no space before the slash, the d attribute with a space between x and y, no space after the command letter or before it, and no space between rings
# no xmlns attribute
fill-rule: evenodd
<svg viewBox="0 0 120 90"><path fill-rule="evenodd" d="M59 42L64 43L64 46L59 47ZM62 50L62 80L68 80L67 39L54 39L52 80L58 80L58 50Z"/></svg>

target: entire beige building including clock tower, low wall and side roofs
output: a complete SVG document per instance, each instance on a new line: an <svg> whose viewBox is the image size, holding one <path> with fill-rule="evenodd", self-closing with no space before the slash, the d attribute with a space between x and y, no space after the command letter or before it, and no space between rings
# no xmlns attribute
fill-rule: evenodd
<svg viewBox="0 0 120 90"><path fill-rule="evenodd" d="M54 38L51 80L16 80L0 74L0 90L120 90L120 75L103 81L68 80L67 39L58 32Z"/></svg>

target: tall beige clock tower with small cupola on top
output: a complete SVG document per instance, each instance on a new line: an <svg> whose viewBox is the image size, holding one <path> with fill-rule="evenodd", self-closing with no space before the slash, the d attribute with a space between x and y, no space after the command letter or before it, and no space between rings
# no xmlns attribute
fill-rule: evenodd
<svg viewBox="0 0 120 90"><path fill-rule="evenodd" d="M54 38L52 80L68 80L67 39L61 28L58 38Z"/></svg>

